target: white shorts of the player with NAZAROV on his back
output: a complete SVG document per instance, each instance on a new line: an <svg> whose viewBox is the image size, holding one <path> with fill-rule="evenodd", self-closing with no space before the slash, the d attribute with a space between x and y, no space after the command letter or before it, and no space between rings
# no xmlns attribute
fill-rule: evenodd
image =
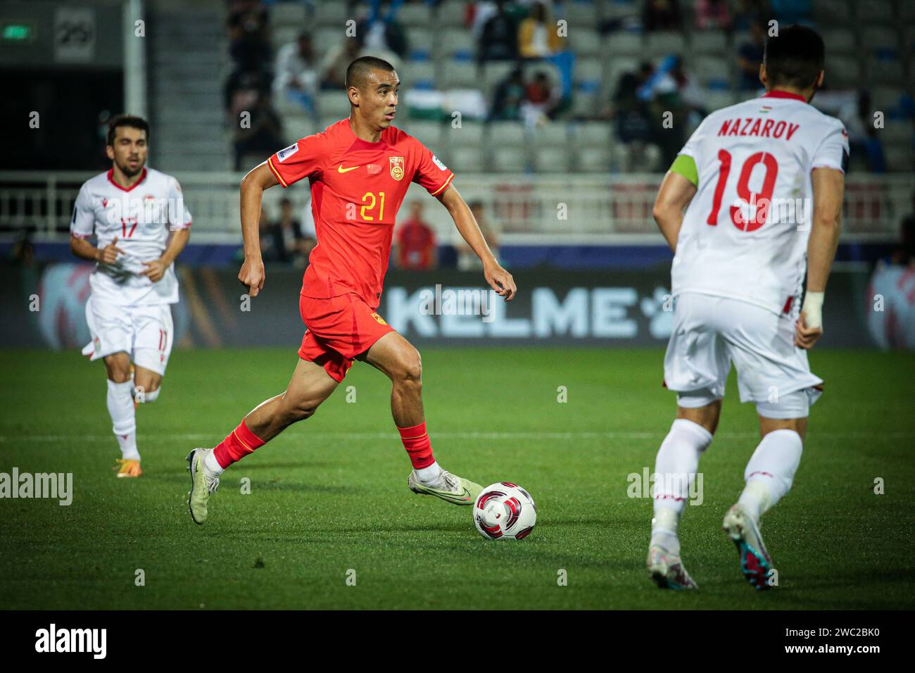
<svg viewBox="0 0 915 673"><path fill-rule="evenodd" d="M766 418L806 418L823 379L794 345L794 320L746 301L684 292L676 299L664 385L679 393L681 407L705 407L725 396L733 363L741 402L756 402Z"/></svg>

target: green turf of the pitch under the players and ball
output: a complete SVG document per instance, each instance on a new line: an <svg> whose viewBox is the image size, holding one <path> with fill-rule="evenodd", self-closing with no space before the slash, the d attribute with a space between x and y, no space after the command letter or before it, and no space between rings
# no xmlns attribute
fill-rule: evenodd
<svg viewBox="0 0 915 673"><path fill-rule="evenodd" d="M425 349L437 459L537 501L522 542L480 537L470 508L407 490L390 386L356 364L318 414L223 475L199 527L184 461L285 386L287 350L178 351L140 409L145 476L117 480L102 364L0 352L0 472L73 472L72 505L2 500L0 608L912 608L915 357L814 352L813 407L794 488L764 519L779 570L757 593L721 518L757 443L734 380L705 454L705 503L688 506L684 561L699 592L644 570L651 500L627 475L653 467L673 416L662 353ZM565 385L568 401L556 401ZM251 494L242 494L243 477ZM874 480L886 494L874 494ZM135 586L135 571L145 586ZM347 571L356 585L347 585ZM565 570L567 586L557 585Z"/></svg>

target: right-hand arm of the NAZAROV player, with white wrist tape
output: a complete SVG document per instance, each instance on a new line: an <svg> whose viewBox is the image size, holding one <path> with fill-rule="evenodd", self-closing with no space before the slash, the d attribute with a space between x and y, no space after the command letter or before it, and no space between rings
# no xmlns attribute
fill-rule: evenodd
<svg viewBox="0 0 915 673"><path fill-rule="evenodd" d="M811 348L823 336L823 298L826 280L839 244L839 221L845 193L845 174L836 168L814 168L813 220L807 242L807 293L794 343Z"/></svg>

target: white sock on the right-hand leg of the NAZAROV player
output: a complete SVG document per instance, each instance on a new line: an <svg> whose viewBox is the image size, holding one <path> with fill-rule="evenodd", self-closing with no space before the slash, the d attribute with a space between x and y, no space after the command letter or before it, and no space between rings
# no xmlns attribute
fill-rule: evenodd
<svg viewBox="0 0 915 673"><path fill-rule="evenodd" d="M794 472L801 464L803 442L790 429L773 430L762 438L753 451L744 471L747 485L740 505L746 507L757 521L791 489Z"/></svg>

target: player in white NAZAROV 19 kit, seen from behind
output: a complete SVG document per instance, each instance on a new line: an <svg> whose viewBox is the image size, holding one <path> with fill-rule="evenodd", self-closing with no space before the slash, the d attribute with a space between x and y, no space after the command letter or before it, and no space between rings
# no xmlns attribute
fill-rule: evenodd
<svg viewBox="0 0 915 673"><path fill-rule="evenodd" d="M805 349L823 334L848 159L842 123L810 105L823 81L823 51L823 39L806 27L769 38L759 69L766 94L709 114L655 202L654 218L674 251L664 383L677 393L676 419L655 463L647 562L663 588L696 586L680 559L677 527L731 364L740 401L756 403L762 440L724 528L749 583L770 587L759 519L791 488L808 409L823 383Z"/></svg>

